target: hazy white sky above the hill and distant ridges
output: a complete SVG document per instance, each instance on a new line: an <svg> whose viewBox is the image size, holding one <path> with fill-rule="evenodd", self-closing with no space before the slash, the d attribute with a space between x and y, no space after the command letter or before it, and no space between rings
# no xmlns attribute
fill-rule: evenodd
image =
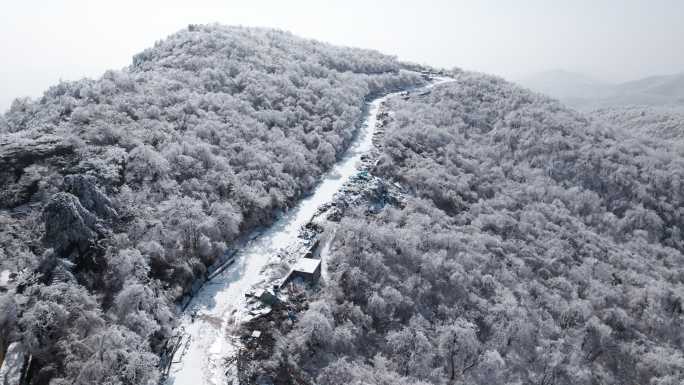
<svg viewBox="0 0 684 385"><path fill-rule="evenodd" d="M515 78L684 71L682 0L1 0L0 111L98 77L188 24L268 26L401 59Z"/></svg>

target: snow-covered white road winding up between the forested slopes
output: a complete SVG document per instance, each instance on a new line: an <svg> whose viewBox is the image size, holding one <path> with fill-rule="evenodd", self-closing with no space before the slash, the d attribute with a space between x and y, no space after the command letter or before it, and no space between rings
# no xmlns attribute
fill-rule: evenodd
<svg viewBox="0 0 684 385"><path fill-rule="evenodd" d="M435 78L430 84L417 88L420 92L437 84L452 81ZM382 103L400 94L391 93L368 103L363 124L345 156L323 177L314 193L282 215L270 228L249 241L235 255L235 263L207 282L192 299L181 317L185 337L174 357L167 385L226 384L233 378L234 367L227 359L234 357L236 344L233 331L240 324L244 293L267 278L264 269L284 248L298 242L302 225L314 215L318 207L332 201L333 196L358 171L362 155L373 147L377 115ZM191 316L195 314L195 316ZM194 321L193 319L194 318ZM235 341L237 343L237 341Z"/></svg>

